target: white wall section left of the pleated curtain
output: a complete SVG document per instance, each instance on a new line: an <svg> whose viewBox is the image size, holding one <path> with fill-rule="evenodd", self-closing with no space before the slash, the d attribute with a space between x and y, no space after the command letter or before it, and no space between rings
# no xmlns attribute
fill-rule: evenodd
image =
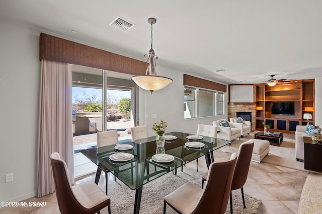
<svg viewBox="0 0 322 214"><path fill-rule="evenodd" d="M2 19L0 29L0 201L18 201L36 188L40 32Z"/></svg>

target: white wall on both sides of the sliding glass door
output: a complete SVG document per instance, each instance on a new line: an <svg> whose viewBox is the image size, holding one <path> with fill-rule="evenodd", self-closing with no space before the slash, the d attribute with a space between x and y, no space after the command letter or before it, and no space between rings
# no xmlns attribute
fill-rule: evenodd
<svg viewBox="0 0 322 214"><path fill-rule="evenodd" d="M0 29L0 201L19 201L36 195L41 31L3 19L0 19ZM174 81L152 95L140 89L140 125L152 127L154 122L163 119L168 122L167 131L190 133L197 131L198 123L211 125L216 117L183 119L184 72L160 65L157 69L158 75ZM227 112L227 105L224 110ZM151 118L151 114L157 117ZM218 117L221 118L226 115ZM149 135L155 135L151 128L148 131ZM5 174L11 172L14 181L5 183Z"/></svg>

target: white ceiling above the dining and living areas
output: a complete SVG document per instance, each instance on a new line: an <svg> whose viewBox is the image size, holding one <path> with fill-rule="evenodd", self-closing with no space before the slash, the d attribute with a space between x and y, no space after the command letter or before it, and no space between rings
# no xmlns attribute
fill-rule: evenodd
<svg viewBox="0 0 322 214"><path fill-rule="evenodd" d="M156 18L157 65L224 84L322 77L321 11L320 0L0 2L1 18L141 61L150 49L147 19ZM117 16L134 26L110 26Z"/></svg>

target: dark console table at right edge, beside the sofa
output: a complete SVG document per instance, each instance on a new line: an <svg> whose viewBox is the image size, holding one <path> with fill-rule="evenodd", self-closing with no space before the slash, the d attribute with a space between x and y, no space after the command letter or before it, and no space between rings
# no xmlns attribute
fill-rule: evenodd
<svg viewBox="0 0 322 214"><path fill-rule="evenodd" d="M315 144L311 136L303 136L304 169L322 173L322 144Z"/></svg>

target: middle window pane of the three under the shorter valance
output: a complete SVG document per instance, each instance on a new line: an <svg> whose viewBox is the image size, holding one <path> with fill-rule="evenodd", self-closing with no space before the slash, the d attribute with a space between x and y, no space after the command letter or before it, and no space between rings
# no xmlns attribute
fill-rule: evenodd
<svg viewBox="0 0 322 214"><path fill-rule="evenodd" d="M199 89L199 117L215 116L216 92Z"/></svg>

